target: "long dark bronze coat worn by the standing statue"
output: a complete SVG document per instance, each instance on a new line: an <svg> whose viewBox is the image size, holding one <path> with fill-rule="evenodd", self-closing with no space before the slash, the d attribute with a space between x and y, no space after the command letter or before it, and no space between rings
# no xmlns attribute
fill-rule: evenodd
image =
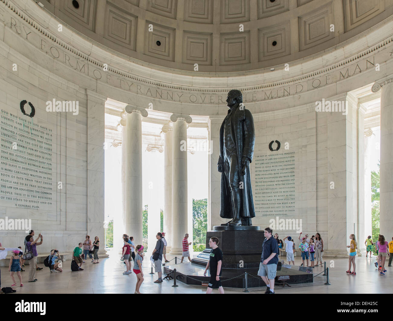
<svg viewBox="0 0 393 321"><path fill-rule="evenodd" d="M228 114L230 111L228 111ZM228 115L225 117L220 128L220 156L218 164L224 167L224 125ZM238 170L240 180L243 182L241 218L247 219L251 225L251 218L255 217L254 202L252 199L250 166L246 168L246 174L241 175L242 158L247 157L252 162L255 144L254 120L248 109L240 109L239 107L233 112L231 117L231 136L235 142L237 149ZM222 218L233 218L230 199L230 184L227 181L224 170L221 173L221 205L220 216Z"/></svg>

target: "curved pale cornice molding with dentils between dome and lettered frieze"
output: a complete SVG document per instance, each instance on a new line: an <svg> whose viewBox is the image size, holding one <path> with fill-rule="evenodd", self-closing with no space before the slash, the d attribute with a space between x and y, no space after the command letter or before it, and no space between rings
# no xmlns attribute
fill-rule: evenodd
<svg viewBox="0 0 393 321"><path fill-rule="evenodd" d="M67 50L68 52L76 55L77 57L86 60L88 63L90 63L94 66L97 66L97 68L103 68L103 65L105 62L100 61L99 59L93 58L91 56L91 54L85 54L84 52L80 51L79 49L75 48L74 46L71 46L70 44L66 43L64 40L60 39L59 36L55 35L51 31L48 31L46 28L41 26L39 24L39 22L37 22L39 20L39 18L41 18L41 19L46 18L46 16L47 16L47 18L51 18L53 20L54 17L52 17L49 13L43 11L40 17L34 17L35 19L33 19L33 18L28 17L26 15L26 13L18 10L17 7L14 7L15 5L12 4L11 2L9 2L7 0L0 0L0 2L9 8L11 13L13 13L15 16L19 17L21 20L24 20L26 23L30 24L33 28L35 28L37 31L39 31L44 37L48 38L51 42L58 44L59 46L64 48L64 50ZM46 24L48 24L48 22L46 22ZM53 21L52 21L52 24L53 24ZM53 26L51 26L51 27L53 27ZM73 43L80 43L81 46L84 46L83 42L87 41L87 37L85 38L84 35L81 35L79 33L78 34L73 33L72 29L66 25L63 25L63 29L68 30L68 32L66 33L67 35L69 35L69 34L73 35L73 37L75 38L75 41L73 41ZM362 37L365 37L365 35L363 35ZM90 42L93 42L93 41L90 40ZM314 76L323 76L323 74L326 74L331 70L344 68L346 65L352 64L361 58L367 57L368 55L371 55L371 54L375 53L376 51L380 51L380 50L384 49L384 47L386 47L391 42L393 42L393 37L388 37L388 38L384 39L383 41L380 41L379 43L377 43L373 46L370 46L367 50L362 50L358 54L351 55L351 57L341 59L338 62L332 63L328 66L323 67L323 68L317 68L313 72L305 72L304 74L302 74L302 70L305 68L303 66L303 63L306 63L308 66L313 65L312 63L310 63L310 61L320 60L321 57L323 57L324 55L327 55L326 61L331 61L332 51L337 48L330 48L329 50L325 50L321 54L316 54L316 55L310 57L309 59L299 59L297 61L292 61L291 62L291 70L297 70L296 72L298 72L299 75L298 76L290 76L291 74L293 74L293 72L291 72L291 73L288 72L288 77L286 79L280 80L280 81L277 81L277 80L270 81L269 80L269 79L274 78L272 75L277 75L277 79L283 77L283 70L279 70L279 69L276 70L276 72L277 72L276 74L274 74L275 72L269 72L268 68L264 68L262 70L254 70L253 72L250 72L250 76L242 76L242 77L238 76L239 72L236 72L236 73L234 73L234 77L231 79L236 81L237 84L241 81L240 79L244 79L241 81L243 83L253 82L255 79L261 79L261 81L263 81L264 84L251 85L251 86L238 86L238 85L234 85L234 83L231 83L230 81L228 81L228 87L235 87L236 86L242 92L248 92L248 91L251 92L251 91L255 91L255 90L275 89L275 87L282 86L282 85L291 85L291 84L294 84L296 82L299 82L299 81L302 81L305 79L310 79L311 77L314 77ZM97 48L97 49L99 49L97 51L100 52L100 54L106 53L108 56L114 56L114 54L115 54L115 52L110 52L108 50L108 48L105 48L102 45L95 44L94 42L93 42L93 45L94 45L94 47L102 47L102 48ZM90 51L91 51L91 46L90 46ZM125 68L128 70L145 68L146 69L145 73L147 73L147 71L150 70L151 71L150 75L153 75L153 72L155 71L153 68L147 68L144 66L138 66L135 63L130 63L130 61L127 61L122 56L124 56L124 55L119 54L118 57L116 57L116 64L123 65L124 67L128 65L128 67ZM323 59L323 60L325 60L325 59ZM130 64L131 64L131 66L130 66ZM133 67L135 67L135 68L133 68ZM129 71L122 70L120 68L115 68L114 66L110 65L110 63L108 63L108 71L113 72L114 74L116 74L118 76L132 79L133 81L139 82L141 84L152 85L152 86L156 86L161 89L184 90L187 92L203 92L203 93L223 93L223 92L228 91L228 87L225 87L225 88L224 87L221 87L221 88L220 87L216 87L216 88L199 87L198 88L195 86L174 85L171 83L165 83L163 81L154 81L154 80L149 79L147 77L135 76ZM173 72L176 72L176 70L173 70ZM181 71L178 70L177 72L181 72ZM182 73L184 74L184 72L182 72ZM165 77L165 74L169 74L169 72L159 71L157 74L163 74L163 76ZM188 79L195 79L195 81L197 81L197 82L203 82L205 77L210 77L211 79L217 79L217 80L220 79L220 77L211 77L212 75L210 73L200 73L199 74L200 76L188 76L188 75L184 76L184 75L176 74L176 73L174 75L175 76L173 77L173 79L178 78L178 81L180 83L181 83L182 78L187 79L187 80ZM224 72L220 75L231 76L231 73ZM214 81L212 83L214 83Z"/></svg>

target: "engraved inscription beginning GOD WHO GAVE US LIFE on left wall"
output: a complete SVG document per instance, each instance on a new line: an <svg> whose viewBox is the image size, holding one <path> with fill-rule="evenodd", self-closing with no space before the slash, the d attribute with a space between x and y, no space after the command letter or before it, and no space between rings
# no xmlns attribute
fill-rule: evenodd
<svg viewBox="0 0 393 321"><path fill-rule="evenodd" d="M1 109L0 201L3 206L56 210L54 126Z"/></svg>

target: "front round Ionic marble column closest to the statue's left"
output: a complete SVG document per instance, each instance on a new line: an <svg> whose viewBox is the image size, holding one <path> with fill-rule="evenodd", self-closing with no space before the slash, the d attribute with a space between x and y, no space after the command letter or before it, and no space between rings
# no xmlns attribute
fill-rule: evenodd
<svg viewBox="0 0 393 321"><path fill-rule="evenodd" d="M187 123L189 115L172 114L172 246L171 254L182 254L182 240L187 231ZM191 241L190 241L191 242Z"/></svg>

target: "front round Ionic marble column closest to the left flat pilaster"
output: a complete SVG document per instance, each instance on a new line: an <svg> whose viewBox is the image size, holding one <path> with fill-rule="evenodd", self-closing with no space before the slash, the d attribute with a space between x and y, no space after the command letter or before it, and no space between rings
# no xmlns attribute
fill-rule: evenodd
<svg viewBox="0 0 393 321"><path fill-rule="evenodd" d="M125 107L127 124L125 129L125 215L124 230L142 243L142 116L146 109Z"/></svg>

